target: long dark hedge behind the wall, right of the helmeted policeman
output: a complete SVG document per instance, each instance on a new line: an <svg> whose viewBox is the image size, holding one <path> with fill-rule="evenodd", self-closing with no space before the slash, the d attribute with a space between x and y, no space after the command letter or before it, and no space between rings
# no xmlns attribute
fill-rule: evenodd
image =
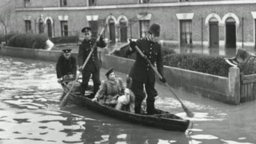
<svg viewBox="0 0 256 144"><path fill-rule="evenodd" d="M228 77L230 67L221 56L203 54L168 54L163 57L163 64L223 77Z"/></svg>

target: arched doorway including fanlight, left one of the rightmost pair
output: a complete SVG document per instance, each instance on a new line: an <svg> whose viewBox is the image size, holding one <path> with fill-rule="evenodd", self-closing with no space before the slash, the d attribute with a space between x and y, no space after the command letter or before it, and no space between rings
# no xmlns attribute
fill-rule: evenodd
<svg viewBox="0 0 256 144"><path fill-rule="evenodd" d="M212 17L209 20L209 39L210 44L209 47L219 47L219 26L218 19Z"/></svg>

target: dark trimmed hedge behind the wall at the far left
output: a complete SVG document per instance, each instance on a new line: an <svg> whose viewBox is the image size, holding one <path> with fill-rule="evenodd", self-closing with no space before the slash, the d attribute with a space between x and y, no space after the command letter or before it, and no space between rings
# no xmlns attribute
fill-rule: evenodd
<svg viewBox="0 0 256 144"><path fill-rule="evenodd" d="M8 42L10 47L26 47L31 49L45 49L47 40L45 35L17 34L12 36Z"/></svg>

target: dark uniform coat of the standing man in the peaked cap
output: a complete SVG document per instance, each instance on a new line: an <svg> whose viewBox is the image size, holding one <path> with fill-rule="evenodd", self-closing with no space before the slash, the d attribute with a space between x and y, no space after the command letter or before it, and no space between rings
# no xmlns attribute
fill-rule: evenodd
<svg viewBox="0 0 256 144"><path fill-rule="evenodd" d="M92 38L91 40L83 40L81 45L79 45L79 51L78 51L78 65L79 67L83 66L84 61L86 60L87 56L89 55L91 48L93 44L96 42L95 38ZM104 41L97 42L97 47L106 47L106 43ZM89 72L95 72L96 70L99 70L101 67L97 47L92 52L92 56L86 63L84 70Z"/></svg>

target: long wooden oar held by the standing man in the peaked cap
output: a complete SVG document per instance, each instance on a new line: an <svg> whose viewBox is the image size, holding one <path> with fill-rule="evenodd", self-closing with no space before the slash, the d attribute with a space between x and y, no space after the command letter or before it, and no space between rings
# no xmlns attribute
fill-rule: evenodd
<svg viewBox="0 0 256 144"><path fill-rule="evenodd" d="M102 33L104 32L104 30L105 30L106 26L107 26L107 24L105 24L105 25L104 25L104 27L102 28L102 30L100 31L100 35L102 35ZM93 46L92 46L92 49L91 49L90 53L88 54L88 56L87 56L86 60L84 61L84 64L83 64L82 69L84 69L84 67L85 67L86 63L87 63L87 62L88 62L88 60L90 59L90 57L91 57L91 55L92 55L92 52L93 52L93 50L94 50L94 49L95 49L95 47L96 47L96 43L97 43L97 41L99 41L99 39L100 39L100 35L98 36L98 38L97 38L96 42L93 44ZM80 71L79 71L79 74L77 74L76 79L75 79L74 83L72 84L72 86L71 86L70 90L69 90L69 91L68 91L68 93L65 95L65 97L61 100L61 102L60 102L60 106L65 106L65 105L67 104L68 95L70 94L71 90L73 89L73 87L74 87L74 85L75 85L76 81L78 80L78 78L79 78L79 76L80 76L81 74L82 74L82 72L80 72Z"/></svg>

